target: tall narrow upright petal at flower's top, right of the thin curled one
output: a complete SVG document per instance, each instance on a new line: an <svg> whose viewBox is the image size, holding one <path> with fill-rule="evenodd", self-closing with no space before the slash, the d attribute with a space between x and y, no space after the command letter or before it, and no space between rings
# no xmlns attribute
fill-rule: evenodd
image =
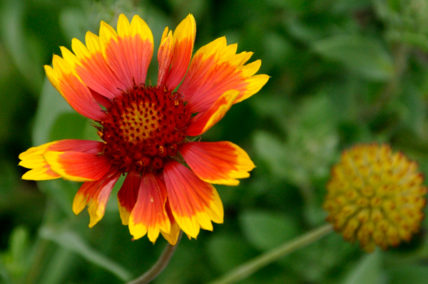
<svg viewBox="0 0 428 284"><path fill-rule="evenodd" d="M196 22L192 14L189 14L175 28L173 33L173 54L166 86L174 90L183 80L190 58L192 58L193 44L196 37Z"/></svg>

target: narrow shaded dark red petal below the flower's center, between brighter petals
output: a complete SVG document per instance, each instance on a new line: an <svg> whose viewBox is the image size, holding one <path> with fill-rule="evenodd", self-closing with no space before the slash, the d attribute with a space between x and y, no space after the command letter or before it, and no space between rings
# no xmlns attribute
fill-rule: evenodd
<svg viewBox="0 0 428 284"><path fill-rule="evenodd" d="M129 172L126 175L125 181L118 191L118 206L119 214L123 225L128 225L129 216L133 207L136 205L138 189L141 184L141 174L136 172Z"/></svg>

